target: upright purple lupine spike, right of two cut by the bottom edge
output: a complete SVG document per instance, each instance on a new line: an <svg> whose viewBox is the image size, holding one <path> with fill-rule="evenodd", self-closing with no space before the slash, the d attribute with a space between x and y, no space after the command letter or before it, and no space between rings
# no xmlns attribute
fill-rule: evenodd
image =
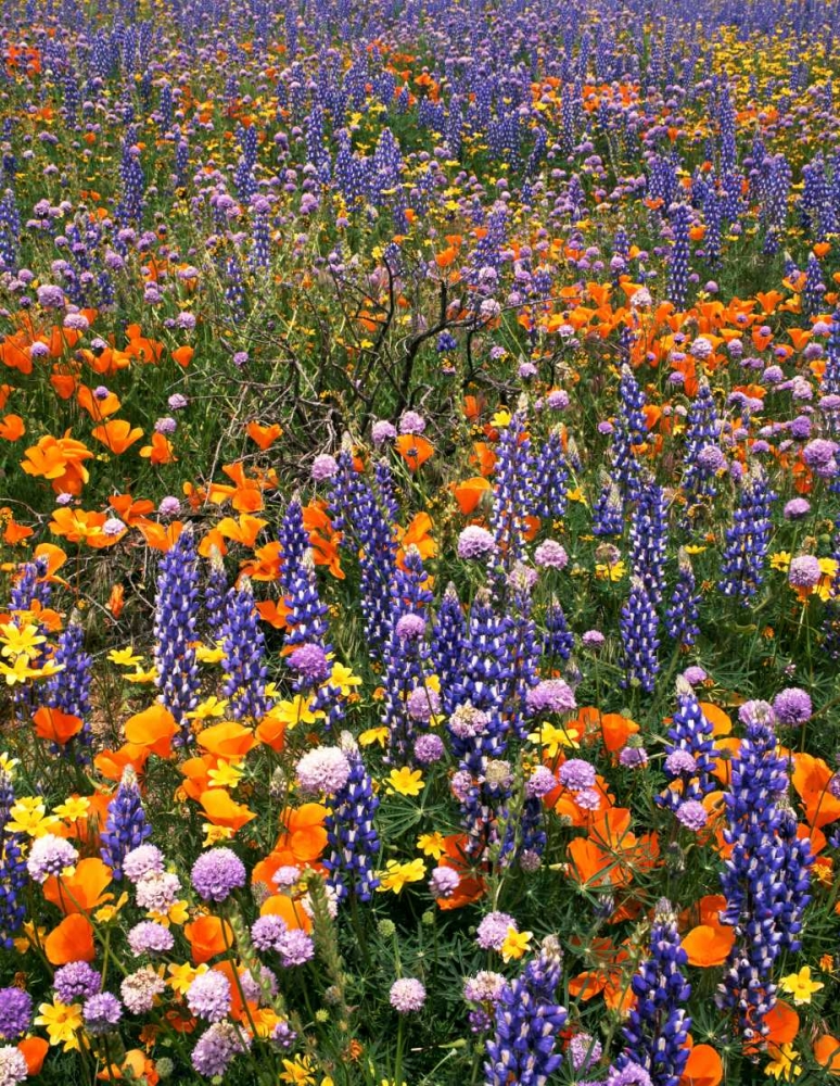
<svg viewBox="0 0 840 1086"><path fill-rule="evenodd" d="M677 1086L688 1060L686 1039L691 1019L684 1007L691 986L684 975L687 964L676 913L662 900L650 932L650 957L632 981L636 1003L624 1026L627 1047L616 1062L618 1069L627 1062L645 1068L653 1086Z"/></svg>

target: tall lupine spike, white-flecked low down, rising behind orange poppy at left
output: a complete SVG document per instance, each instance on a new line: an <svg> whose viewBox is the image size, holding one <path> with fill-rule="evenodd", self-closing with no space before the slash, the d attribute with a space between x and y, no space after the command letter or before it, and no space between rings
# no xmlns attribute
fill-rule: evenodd
<svg viewBox="0 0 840 1086"><path fill-rule="evenodd" d="M154 618L155 683L161 704L178 725L174 744L192 742L187 714L199 704L201 678L195 655L199 565L195 540L187 526L158 566Z"/></svg>

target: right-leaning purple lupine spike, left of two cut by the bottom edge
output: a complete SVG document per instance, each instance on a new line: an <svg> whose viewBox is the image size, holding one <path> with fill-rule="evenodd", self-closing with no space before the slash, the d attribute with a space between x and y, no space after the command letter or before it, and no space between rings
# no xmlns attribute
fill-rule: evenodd
<svg viewBox="0 0 840 1086"><path fill-rule="evenodd" d="M501 992L496 1006L495 1031L487 1039L485 1086L543 1086L560 1066L556 1051L567 1012L556 1002L562 952L549 936L539 954Z"/></svg>

